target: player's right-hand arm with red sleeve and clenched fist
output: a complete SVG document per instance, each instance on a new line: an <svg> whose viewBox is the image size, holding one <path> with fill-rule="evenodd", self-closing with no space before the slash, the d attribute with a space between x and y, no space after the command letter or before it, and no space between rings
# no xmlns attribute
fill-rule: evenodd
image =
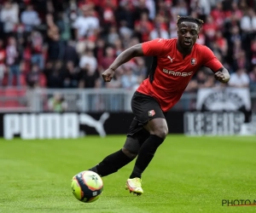
<svg viewBox="0 0 256 213"><path fill-rule="evenodd" d="M228 83L230 81L230 73L222 63L213 54L212 50L206 46L201 49L202 57L204 61L204 66L209 67L212 72L214 72L214 78L216 78L221 83Z"/></svg>

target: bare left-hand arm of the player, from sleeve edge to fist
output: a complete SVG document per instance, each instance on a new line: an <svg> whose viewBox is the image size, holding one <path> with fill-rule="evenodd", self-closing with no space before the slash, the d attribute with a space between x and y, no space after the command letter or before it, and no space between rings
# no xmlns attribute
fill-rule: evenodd
<svg viewBox="0 0 256 213"><path fill-rule="evenodd" d="M144 56L143 54L143 44L138 43L134 46L132 46L129 49L125 49L112 63L111 66L108 67L108 69L102 73L102 78L105 82L110 82L113 78L115 70L121 66L122 64L125 64L125 62L131 60L134 57L137 56Z"/></svg>

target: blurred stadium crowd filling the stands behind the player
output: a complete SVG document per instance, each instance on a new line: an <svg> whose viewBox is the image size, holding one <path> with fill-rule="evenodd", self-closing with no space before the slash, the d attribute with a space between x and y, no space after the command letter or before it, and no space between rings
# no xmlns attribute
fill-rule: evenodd
<svg viewBox="0 0 256 213"><path fill-rule="evenodd" d="M0 86L134 89L150 58L101 73L121 51L156 37L177 37L177 15L204 21L206 44L230 71L230 85L256 90L255 0L0 0ZM202 68L187 91L216 85Z"/></svg>

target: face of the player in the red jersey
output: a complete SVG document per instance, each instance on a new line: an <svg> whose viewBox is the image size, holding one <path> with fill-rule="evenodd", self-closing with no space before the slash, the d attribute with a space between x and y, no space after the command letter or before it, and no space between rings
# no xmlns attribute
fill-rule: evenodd
<svg viewBox="0 0 256 213"><path fill-rule="evenodd" d="M194 22L183 21L178 26L178 43L183 49L191 49L196 42L199 26Z"/></svg>

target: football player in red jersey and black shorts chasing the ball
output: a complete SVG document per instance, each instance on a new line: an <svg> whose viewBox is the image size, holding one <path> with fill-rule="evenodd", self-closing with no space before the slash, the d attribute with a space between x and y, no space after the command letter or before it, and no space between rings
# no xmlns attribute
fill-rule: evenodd
<svg viewBox="0 0 256 213"><path fill-rule="evenodd" d="M125 187L131 193L143 194L142 174L168 134L166 113L179 101L189 80L201 66L209 67L221 83L230 80L229 72L207 46L197 44L203 21L190 16L177 19L177 38L157 38L139 43L122 52L102 73L110 82L115 70L137 56L154 56L148 78L140 84L131 99L135 115L125 145L90 168L108 176L137 157Z"/></svg>

